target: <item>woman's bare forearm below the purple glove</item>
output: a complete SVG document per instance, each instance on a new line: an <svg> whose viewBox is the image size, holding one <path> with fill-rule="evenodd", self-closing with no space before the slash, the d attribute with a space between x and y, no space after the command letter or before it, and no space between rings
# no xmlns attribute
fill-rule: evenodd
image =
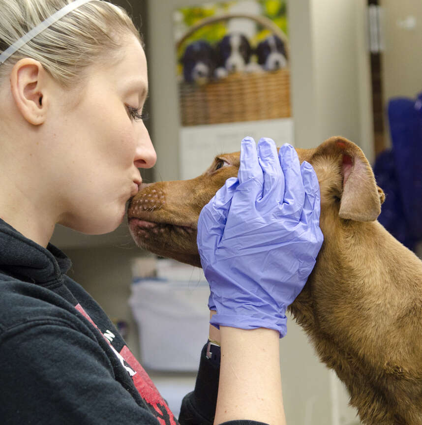
<svg viewBox="0 0 422 425"><path fill-rule="evenodd" d="M284 424L278 332L220 326L220 334L215 423L239 419L241 414L254 421Z"/></svg>

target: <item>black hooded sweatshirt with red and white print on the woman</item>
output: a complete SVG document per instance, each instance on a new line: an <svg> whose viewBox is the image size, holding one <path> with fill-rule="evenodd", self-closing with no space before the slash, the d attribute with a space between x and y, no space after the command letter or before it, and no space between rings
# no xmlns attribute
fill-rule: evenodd
<svg viewBox="0 0 422 425"><path fill-rule="evenodd" d="M70 266L0 219L0 423L212 425L219 365L207 344L177 420Z"/></svg>

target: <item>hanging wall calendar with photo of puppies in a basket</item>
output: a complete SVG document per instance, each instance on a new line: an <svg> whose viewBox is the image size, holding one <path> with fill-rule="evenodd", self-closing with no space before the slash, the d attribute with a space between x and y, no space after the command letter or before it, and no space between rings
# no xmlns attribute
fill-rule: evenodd
<svg viewBox="0 0 422 425"><path fill-rule="evenodd" d="M189 5L173 20L181 178L238 151L246 135L293 144L286 0ZM197 169L185 163L192 156Z"/></svg>

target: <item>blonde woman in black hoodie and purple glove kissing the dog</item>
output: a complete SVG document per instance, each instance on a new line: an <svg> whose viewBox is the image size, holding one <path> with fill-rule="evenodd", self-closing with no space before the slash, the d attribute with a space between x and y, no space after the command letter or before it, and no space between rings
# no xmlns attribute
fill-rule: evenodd
<svg viewBox="0 0 422 425"><path fill-rule="evenodd" d="M141 183L138 168L155 163L142 121L142 39L102 0L0 0L0 10L1 422L177 424L49 243L56 223L116 229ZM321 246L318 223L312 167L290 146L278 157L271 140L257 152L245 139L239 180L226 182L198 222L214 342L180 424L285 423L279 337ZM257 249L263 234L268 246ZM273 267L280 258L287 266Z"/></svg>

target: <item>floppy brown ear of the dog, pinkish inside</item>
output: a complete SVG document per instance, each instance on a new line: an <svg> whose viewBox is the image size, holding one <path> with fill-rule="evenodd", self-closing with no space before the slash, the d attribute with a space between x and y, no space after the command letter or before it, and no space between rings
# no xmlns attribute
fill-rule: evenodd
<svg viewBox="0 0 422 425"><path fill-rule="evenodd" d="M339 217L356 221L374 221L381 212L384 192L376 182L362 150L343 137L331 137L320 145L322 151L340 160L343 177Z"/></svg>

